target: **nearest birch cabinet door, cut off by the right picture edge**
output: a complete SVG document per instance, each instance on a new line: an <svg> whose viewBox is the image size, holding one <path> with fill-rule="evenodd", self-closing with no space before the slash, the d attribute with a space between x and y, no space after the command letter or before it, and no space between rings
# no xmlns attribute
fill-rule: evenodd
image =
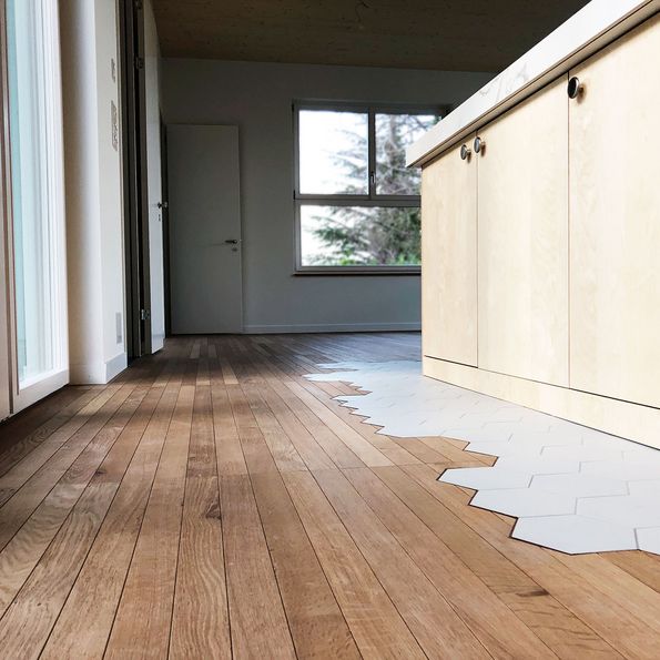
<svg viewBox="0 0 660 660"><path fill-rule="evenodd" d="M570 72L570 385L660 406L660 17Z"/></svg>

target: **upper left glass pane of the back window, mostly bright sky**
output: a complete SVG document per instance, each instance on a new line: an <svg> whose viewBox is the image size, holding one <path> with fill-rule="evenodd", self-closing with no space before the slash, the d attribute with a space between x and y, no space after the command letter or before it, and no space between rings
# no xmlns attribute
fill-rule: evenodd
<svg viewBox="0 0 660 660"><path fill-rule="evenodd" d="M367 194L366 112L301 110L298 141L301 193Z"/></svg>

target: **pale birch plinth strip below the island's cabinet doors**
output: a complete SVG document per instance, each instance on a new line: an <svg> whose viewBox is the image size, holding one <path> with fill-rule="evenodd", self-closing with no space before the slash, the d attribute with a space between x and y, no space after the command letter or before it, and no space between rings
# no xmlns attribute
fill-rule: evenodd
<svg viewBox="0 0 660 660"><path fill-rule="evenodd" d="M424 357L424 374L527 408L660 448L660 410L597 394Z"/></svg>

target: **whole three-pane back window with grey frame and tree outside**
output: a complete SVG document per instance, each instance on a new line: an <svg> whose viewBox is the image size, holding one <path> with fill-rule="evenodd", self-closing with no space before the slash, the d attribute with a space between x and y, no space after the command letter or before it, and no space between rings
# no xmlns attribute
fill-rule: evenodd
<svg viewBox="0 0 660 660"><path fill-rule="evenodd" d="M418 170L406 148L435 109L301 103L296 125L298 272L418 272Z"/></svg>

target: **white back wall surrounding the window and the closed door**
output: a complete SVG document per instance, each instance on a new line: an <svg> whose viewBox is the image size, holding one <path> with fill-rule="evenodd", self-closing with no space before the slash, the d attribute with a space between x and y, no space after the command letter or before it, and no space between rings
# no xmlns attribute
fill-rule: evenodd
<svg viewBox="0 0 660 660"><path fill-rule="evenodd" d="M166 123L237 124L247 332L419 327L418 276L294 276L294 99L456 104L488 73L163 60Z"/></svg>

